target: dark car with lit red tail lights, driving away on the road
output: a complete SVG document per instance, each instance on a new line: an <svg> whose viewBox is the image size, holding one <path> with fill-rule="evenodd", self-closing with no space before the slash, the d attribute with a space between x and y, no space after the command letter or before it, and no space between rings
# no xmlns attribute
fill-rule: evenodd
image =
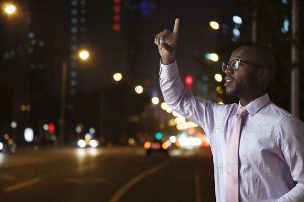
<svg viewBox="0 0 304 202"><path fill-rule="evenodd" d="M153 153L161 153L169 156L169 147L160 140L148 140L144 143L144 148L146 149L147 156L151 156Z"/></svg>

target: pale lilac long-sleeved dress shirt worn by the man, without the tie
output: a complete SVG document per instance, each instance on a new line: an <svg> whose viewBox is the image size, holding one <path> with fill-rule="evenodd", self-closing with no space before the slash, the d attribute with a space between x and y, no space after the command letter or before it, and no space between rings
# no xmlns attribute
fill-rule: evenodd
<svg viewBox="0 0 304 202"><path fill-rule="evenodd" d="M225 201L226 173L233 169L226 165L227 142L241 104L208 103L195 97L182 84L176 61L160 66L165 102L201 126L209 138L216 200ZM304 124L272 103L268 94L245 107L249 114L241 128L239 200L304 201Z"/></svg>

